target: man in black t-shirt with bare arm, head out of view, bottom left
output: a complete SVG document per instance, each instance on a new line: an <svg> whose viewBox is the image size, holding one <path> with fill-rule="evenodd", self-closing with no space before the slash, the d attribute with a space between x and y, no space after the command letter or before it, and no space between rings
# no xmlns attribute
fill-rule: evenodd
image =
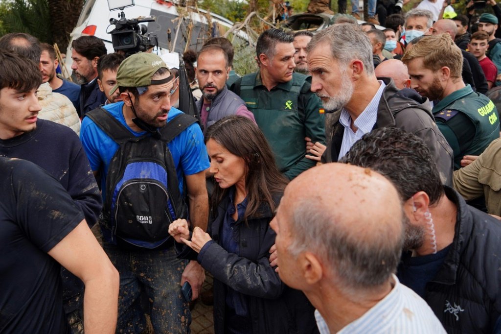
<svg viewBox="0 0 501 334"><path fill-rule="evenodd" d="M71 332L61 265L85 283L86 332L114 332L118 272L80 208L32 162L0 157L0 175L0 332Z"/></svg>

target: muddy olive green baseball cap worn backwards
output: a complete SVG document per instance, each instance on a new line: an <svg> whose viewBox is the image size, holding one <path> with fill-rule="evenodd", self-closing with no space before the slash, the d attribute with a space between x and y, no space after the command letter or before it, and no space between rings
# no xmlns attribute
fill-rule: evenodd
<svg viewBox="0 0 501 334"><path fill-rule="evenodd" d="M137 87L139 94L143 94L148 86L171 81L174 78L172 75L162 80L151 79L161 68L169 70L162 58L153 53L139 52L127 57L118 67L117 84L110 90L110 95L118 89L118 86Z"/></svg>

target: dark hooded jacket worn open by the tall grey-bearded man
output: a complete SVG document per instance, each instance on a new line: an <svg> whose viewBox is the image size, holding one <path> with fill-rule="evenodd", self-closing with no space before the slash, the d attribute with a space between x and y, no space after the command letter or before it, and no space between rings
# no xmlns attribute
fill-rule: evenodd
<svg viewBox="0 0 501 334"><path fill-rule="evenodd" d="M452 184L453 158L452 149L435 124L428 100L411 89L398 90L390 78L383 80L386 87L379 100L375 128L396 126L414 133L426 143L437 164L440 179L445 185ZM337 161L343 142L344 126L339 122L341 110L334 113L332 140L322 157L327 162Z"/></svg>

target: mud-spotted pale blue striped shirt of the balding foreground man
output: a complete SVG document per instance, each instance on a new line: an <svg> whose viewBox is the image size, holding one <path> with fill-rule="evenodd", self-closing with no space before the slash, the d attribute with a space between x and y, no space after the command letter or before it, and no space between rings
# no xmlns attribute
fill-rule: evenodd
<svg viewBox="0 0 501 334"><path fill-rule="evenodd" d="M360 318L343 327L338 334L445 334L445 329L428 304L401 284L397 276L393 275L393 279L395 286L391 292ZM315 310L315 319L320 334L330 334L318 310Z"/></svg>

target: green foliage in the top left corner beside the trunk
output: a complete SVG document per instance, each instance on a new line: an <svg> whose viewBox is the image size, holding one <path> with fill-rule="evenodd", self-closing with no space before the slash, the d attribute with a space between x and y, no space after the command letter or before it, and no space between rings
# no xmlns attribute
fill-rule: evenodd
<svg viewBox="0 0 501 334"><path fill-rule="evenodd" d="M12 0L0 7L0 27L6 33L27 33L51 42L51 18L47 0Z"/></svg>

